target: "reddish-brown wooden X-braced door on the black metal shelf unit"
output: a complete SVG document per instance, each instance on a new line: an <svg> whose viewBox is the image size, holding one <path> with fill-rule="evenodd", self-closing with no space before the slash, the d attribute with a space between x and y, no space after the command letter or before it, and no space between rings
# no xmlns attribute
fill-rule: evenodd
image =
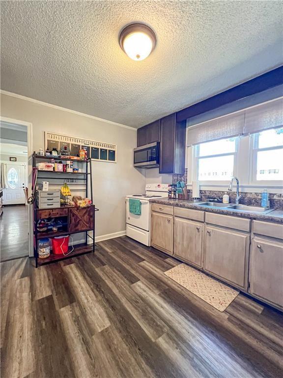
<svg viewBox="0 0 283 378"><path fill-rule="evenodd" d="M69 232L86 231L93 229L93 206L70 208Z"/></svg>

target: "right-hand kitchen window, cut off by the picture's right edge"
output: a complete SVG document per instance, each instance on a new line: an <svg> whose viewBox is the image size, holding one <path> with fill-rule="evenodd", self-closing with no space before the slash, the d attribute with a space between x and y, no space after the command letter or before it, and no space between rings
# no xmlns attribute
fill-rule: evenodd
<svg viewBox="0 0 283 378"><path fill-rule="evenodd" d="M283 128L264 130L253 135L253 182L257 185L282 184Z"/></svg>

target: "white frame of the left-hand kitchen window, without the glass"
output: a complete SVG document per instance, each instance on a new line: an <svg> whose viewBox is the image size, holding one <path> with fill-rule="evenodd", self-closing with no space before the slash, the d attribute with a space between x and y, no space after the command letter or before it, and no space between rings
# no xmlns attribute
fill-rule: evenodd
<svg viewBox="0 0 283 378"><path fill-rule="evenodd" d="M223 156L233 156L233 174L232 176L237 175L237 161L238 161L238 152L239 152L239 137L235 136L235 151L234 152L228 152L224 154L215 154L215 155L206 155L206 156L199 156L199 145L204 144L199 143L197 145L192 146L192 178L193 180L198 180L198 161L199 159L203 158L218 158ZM230 139L230 138L221 138L221 139ZM229 185L230 180L198 180L200 184L202 185L211 185L211 186L226 186Z"/></svg>

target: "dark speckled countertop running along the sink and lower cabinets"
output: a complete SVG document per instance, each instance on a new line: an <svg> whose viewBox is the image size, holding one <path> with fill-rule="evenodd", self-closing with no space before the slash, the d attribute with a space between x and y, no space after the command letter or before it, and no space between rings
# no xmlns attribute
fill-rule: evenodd
<svg viewBox="0 0 283 378"><path fill-rule="evenodd" d="M186 209L202 210L202 211L206 211L207 213L217 213L217 214L231 215L231 216L240 217L240 218L255 219L258 221L283 223L283 210L273 210L272 212L268 214L258 214L258 213L253 213L252 211L247 213L247 212L242 212L242 211L237 211L237 210L232 210L232 209L198 206L196 203L186 200L186 199L153 198L153 199L150 199L149 202L159 203L159 204L168 205L168 206L183 207Z"/></svg>

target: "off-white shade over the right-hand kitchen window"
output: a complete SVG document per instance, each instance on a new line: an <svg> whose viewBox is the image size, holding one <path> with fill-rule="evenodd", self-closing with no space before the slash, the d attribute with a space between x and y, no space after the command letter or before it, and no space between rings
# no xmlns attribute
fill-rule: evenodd
<svg viewBox="0 0 283 378"><path fill-rule="evenodd" d="M283 98L255 106L245 111L245 134L283 126Z"/></svg>

